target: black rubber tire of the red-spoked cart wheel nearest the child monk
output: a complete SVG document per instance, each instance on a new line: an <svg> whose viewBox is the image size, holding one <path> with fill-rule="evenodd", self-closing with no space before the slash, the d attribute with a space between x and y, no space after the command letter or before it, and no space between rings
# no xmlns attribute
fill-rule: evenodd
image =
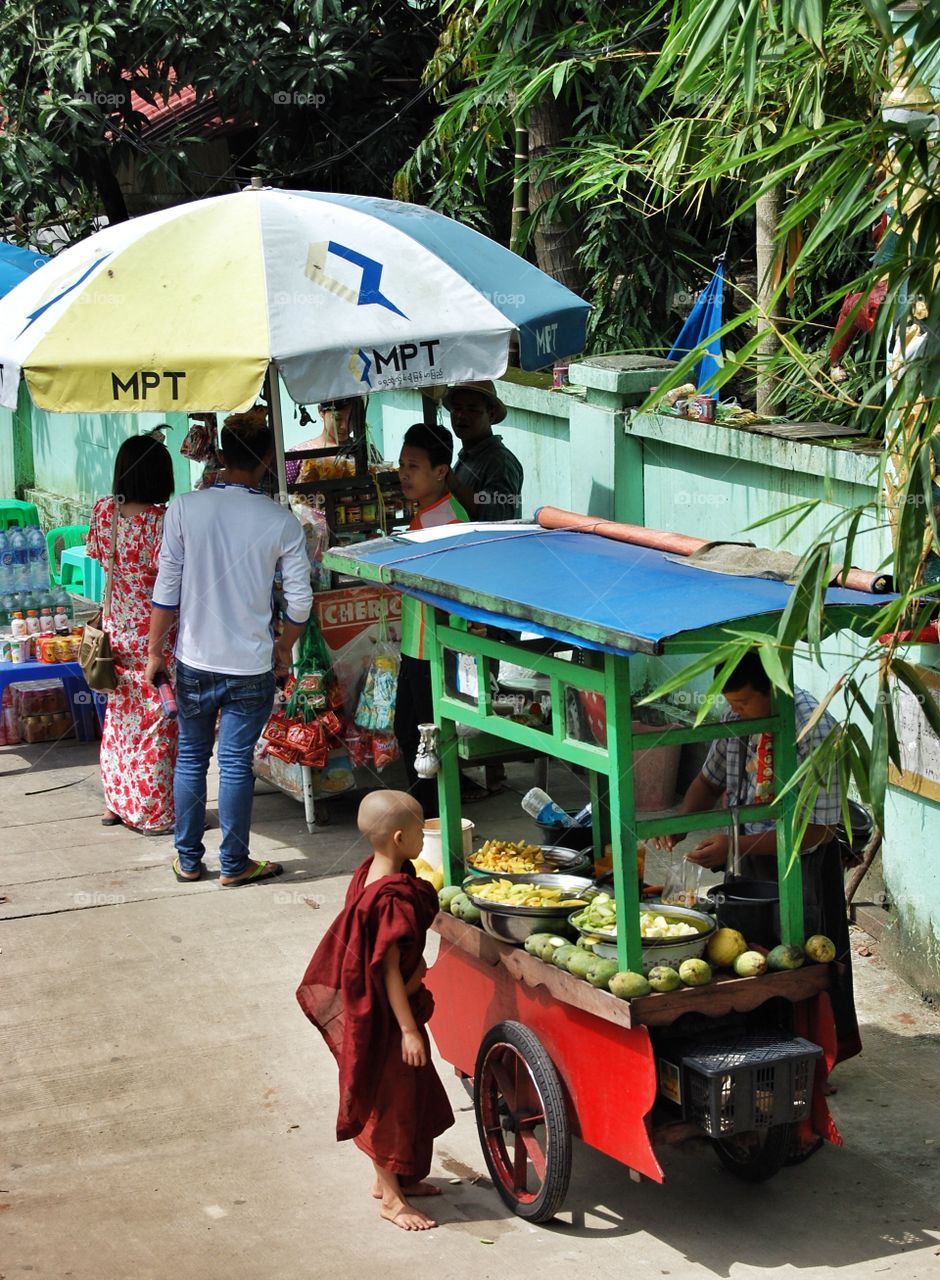
<svg viewBox="0 0 940 1280"><path fill-rule="evenodd" d="M544 1176L538 1189L510 1185L507 1138L512 1134L515 1152L515 1100L506 1100L494 1079L493 1068L512 1059L528 1071L529 1085L538 1098L544 1117ZM493 1185L503 1203L529 1222L547 1222L561 1210L571 1180L571 1125L567 1119L565 1091L538 1036L521 1023L505 1021L487 1032L476 1055L474 1070L474 1112L476 1132ZM492 1120L488 1133L488 1120ZM497 1147L497 1153L492 1147Z"/></svg>

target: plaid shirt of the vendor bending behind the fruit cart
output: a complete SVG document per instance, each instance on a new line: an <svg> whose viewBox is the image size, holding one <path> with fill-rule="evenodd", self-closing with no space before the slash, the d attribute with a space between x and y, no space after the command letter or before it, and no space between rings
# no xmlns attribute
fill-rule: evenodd
<svg viewBox="0 0 940 1280"><path fill-rule="evenodd" d="M797 735L799 736L800 730L813 714L818 703L809 694L804 692L804 690L794 689L793 707ZM727 710L722 716L722 721L739 718L733 710ZM823 712L812 731L797 742L797 759L800 763L807 758L812 748L818 746L834 724L835 721L829 712ZM716 739L708 749L708 755L702 765L702 773L713 787L721 787L729 804L734 800L739 805L758 803L756 799L758 741L759 733L754 733L748 739L722 737ZM748 769L748 765L750 765L750 769ZM834 774L827 780L826 785L820 787L816 804L809 814L809 822L818 827L835 827L841 822L841 787L838 774ZM741 829L758 832L770 831L772 827L772 822L748 822L744 823Z"/></svg>

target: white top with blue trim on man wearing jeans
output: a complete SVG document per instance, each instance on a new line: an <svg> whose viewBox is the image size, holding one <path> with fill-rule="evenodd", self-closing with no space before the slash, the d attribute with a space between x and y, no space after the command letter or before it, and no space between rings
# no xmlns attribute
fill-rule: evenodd
<svg viewBox="0 0 940 1280"><path fill-rule="evenodd" d="M229 676L270 671L278 568L288 618L306 622L310 561L296 516L245 485L218 484L172 502L154 604L179 609L177 658Z"/></svg>

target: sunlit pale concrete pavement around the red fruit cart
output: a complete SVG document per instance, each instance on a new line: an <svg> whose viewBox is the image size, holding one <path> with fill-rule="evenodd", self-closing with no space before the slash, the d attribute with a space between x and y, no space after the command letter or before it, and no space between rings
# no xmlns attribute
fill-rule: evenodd
<svg viewBox="0 0 940 1280"><path fill-rule="evenodd" d="M561 771L549 783L578 799ZM489 1187L442 1065L441 1226L409 1235L334 1140L336 1069L293 997L364 856L355 804L309 836L300 805L257 795L254 852L287 874L237 892L215 878L218 832L213 877L178 884L173 841L105 829L100 806L93 745L0 750L6 1280L940 1277L940 1016L873 943L855 957L866 1052L835 1076L843 1148L748 1187L695 1143L662 1152L658 1187L575 1143L567 1210L533 1228ZM531 835L514 792L467 814L478 835Z"/></svg>

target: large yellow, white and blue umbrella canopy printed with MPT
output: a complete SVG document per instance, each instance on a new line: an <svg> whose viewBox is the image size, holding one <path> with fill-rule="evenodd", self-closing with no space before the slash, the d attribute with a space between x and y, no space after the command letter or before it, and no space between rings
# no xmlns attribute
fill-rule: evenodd
<svg viewBox="0 0 940 1280"><path fill-rule="evenodd" d="M589 306L478 232L365 196L246 191L105 228L0 300L0 403L300 403L498 378L584 346Z"/></svg>

